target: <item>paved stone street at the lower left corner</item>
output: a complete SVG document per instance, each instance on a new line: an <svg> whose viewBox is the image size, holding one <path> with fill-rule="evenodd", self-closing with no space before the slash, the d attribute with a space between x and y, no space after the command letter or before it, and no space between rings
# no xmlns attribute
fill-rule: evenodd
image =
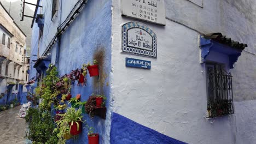
<svg viewBox="0 0 256 144"><path fill-rule="evenodd" d="M0 143L25 143L26 122L18 113L21 106L0 112Z"/></svg>

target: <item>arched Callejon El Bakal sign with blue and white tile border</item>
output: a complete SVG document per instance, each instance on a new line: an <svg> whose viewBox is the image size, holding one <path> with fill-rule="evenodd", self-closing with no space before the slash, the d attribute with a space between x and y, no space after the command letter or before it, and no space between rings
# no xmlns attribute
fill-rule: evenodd
<svg viewBox="0 0 256 144"><path fill-rule="evenodd" d="M156 34L140 22L128 22L122 28L122 50L156 58Z"/></svg>

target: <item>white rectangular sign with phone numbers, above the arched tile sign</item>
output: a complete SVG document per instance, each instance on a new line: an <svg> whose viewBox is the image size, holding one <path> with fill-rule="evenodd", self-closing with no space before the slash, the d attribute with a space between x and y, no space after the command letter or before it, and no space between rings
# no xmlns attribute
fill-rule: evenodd
<svg viewBox="0 0 256 144"><path fill-rule="evenodd" d="M121 14L165 25L164 0L121 0Z"/></svg>

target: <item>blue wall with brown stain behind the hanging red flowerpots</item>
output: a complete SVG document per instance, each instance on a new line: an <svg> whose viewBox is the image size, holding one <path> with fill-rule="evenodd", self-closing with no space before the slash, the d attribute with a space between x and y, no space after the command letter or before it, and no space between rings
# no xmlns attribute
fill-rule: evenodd
<svg viewBox="0 0 256 144"><path fill-rule="evenodd" d="M88 74L86 87L73 85L72 97L81 94L81 100L87 101L92 93L104 94L107 97L107 109L110 99L110 86L107 83L111 69L111 4L110 0L88 1L82 13L62 35L59 59L56 59L59 73L64 75L70 73L71 70L81 68L83 63L93 62L94 57L100 58L100 76L90 77ZM91 119L87 114L83 116L88 125L93 126L100 134L100 143L108 143L106 129L110 127L106 126L106 121L110 119L105 120L97 116ZM87 133L88 131L83 129L78 140L69 140L67 143L88 143Z"/></svg>

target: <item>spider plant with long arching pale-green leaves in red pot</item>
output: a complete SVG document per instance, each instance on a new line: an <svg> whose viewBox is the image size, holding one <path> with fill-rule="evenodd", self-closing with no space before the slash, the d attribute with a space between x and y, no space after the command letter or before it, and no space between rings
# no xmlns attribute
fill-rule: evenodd
<svg viewBox="0 0 256 144"><path fill-rule="evenodd" d="M59 127L69 125L69 133L71 135L78 135L82 131L82 110L75 110L74 107L69 107L66 113L58 114L62 118L57 121ZM65 129L62 130L62 135L66 134Z"/></svg>

